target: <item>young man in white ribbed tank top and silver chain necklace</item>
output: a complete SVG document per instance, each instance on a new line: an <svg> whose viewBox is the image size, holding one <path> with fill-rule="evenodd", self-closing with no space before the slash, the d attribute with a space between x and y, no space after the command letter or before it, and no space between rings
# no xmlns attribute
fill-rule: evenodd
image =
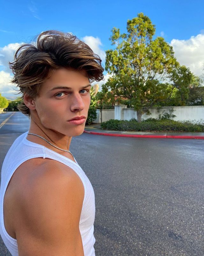
<svg viewBox="0 0 204 256"><path fill-rule="evenodd" d="M94 256L94 191L69 146L84 131L101 59L76 36L46 31L10 67L31 124L2 166L2 239L12 256Z"/></svg>

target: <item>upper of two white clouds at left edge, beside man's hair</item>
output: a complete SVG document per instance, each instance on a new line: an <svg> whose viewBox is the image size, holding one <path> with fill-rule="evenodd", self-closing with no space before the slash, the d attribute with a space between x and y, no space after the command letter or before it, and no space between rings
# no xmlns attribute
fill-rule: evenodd
<svg viewBox="0 0 204 256"><path fill-rule="evenodd" d="M13 61L14 59L14 52L17 50L18 46L21 44L8 44L4 47L0 47L0 65L4 66L4 70L6 72L11 73L11 69L8 66L9 61Z"/></svg>

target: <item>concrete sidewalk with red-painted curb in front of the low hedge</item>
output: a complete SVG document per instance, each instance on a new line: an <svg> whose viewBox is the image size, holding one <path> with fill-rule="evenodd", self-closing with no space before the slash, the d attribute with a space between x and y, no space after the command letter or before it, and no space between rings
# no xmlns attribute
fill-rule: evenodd
<svg viewBox="0 0 204 256"><path fill-rule="evenodd" d="M120 136L120 137L135 137L135 138L168 138L168 139L204 139L204 132L122 132L102 130L100 124L86 125L85 133Z"/></svg>

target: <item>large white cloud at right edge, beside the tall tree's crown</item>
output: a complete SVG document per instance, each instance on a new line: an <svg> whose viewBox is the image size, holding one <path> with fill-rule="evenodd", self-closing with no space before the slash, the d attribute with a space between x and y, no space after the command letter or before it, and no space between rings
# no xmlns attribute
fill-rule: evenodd
<svg viewBox="0 0 204 256"><path fill-rule="evenodd" d="M204 65L204 35L191 36L187 40L171 40L175 57L181 65L190 68L195 75L201 75Z"/></svg>

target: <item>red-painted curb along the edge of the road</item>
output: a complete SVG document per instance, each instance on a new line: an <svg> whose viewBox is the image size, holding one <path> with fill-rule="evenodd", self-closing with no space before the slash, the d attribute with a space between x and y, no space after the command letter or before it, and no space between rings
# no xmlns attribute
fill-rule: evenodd
<svg viewBox="0 0 204 256"><path fill-rule="evenodd" d="M117 134L117 133L105 133L105 132L89 132L84 133L115 136L115 137L134 137L134 138L164 138L164 139L204 139L204 136L176 136L176 135L139 135L139 134Z"/></svg>

